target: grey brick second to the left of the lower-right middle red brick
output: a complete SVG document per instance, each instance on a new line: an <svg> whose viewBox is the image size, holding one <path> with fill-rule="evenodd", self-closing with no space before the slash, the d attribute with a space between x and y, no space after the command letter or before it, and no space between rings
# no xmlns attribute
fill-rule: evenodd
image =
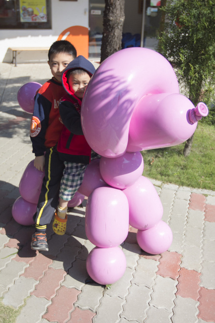
<svg viewBox="0 0 215 323"><path fill-rule="evenodd" d="M149 307L152 290L144 285L137 286L133 284L128 291L129 294L126 297L121 317L126 318L128 321L133 319L142 322L147 317L146 311Z"/></svg>

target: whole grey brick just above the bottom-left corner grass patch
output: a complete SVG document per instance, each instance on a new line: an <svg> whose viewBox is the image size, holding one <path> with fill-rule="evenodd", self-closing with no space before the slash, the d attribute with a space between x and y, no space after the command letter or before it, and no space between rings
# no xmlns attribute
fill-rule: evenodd
<svg viewBox="0 0 215 323"><path fill-rule="evenodd" d="M3 297L3 303L18 308L24 304L24 299L30 295L39 282L33 278L21 276Z"/></svg>

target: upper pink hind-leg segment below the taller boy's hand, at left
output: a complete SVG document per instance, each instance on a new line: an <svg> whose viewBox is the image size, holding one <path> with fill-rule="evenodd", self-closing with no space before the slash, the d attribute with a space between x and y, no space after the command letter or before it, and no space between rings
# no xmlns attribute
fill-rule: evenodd
<svg viewBox="0 0 215 323"><path fill-rule="evenodd" d="M33 204L37 204L42 187L44 172L34 167L34 160L31 160L26 167L19 184L19 191L22 197Z"/></svg>

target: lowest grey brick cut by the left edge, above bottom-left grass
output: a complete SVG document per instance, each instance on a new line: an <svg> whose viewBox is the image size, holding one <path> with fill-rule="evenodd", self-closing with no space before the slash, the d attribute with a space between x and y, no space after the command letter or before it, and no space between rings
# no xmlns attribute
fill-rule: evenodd
<svg viewBox="0 0 215 323"><path fill-rule="evenodd" d="M24 273L27 266L28 265L25 262L12 260L3 268L0 273L0 285L2 286L0 297L3 296L3 292L7 291L9 287L14 284L15 279Z"/></svg>

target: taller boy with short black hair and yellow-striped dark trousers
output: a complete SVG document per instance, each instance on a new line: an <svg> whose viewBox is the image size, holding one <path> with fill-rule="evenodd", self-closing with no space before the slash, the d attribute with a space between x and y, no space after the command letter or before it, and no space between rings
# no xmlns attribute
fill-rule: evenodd
<svg viewBox="0 0 215 323"><path fill-rule="evenodd" d="M32 236L33 250L48 251L46 226L51 222L58 204L60 180L64 169L56 149L63 128L59 103L66 93L61 83L61 75L69 62L76 57L76 48L70 42L55 41L48 52L48 65L53 77L43 84L35 96L30 137L35 154L34 166L39 171L44 169L45 176L34 214L36 232Z"/></svg>

